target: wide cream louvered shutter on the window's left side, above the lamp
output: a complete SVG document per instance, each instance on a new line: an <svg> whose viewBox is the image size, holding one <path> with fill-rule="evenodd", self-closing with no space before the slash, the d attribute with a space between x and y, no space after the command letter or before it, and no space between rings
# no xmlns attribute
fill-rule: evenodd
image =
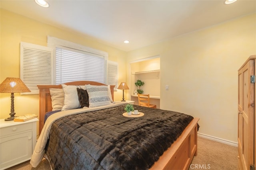
<svg viewBox="0 0 256 170"><path fill-rule="evenodd" d="M53 83L53 49L20 42L20 78L31 92L38 94L37 85Z"/></svg>

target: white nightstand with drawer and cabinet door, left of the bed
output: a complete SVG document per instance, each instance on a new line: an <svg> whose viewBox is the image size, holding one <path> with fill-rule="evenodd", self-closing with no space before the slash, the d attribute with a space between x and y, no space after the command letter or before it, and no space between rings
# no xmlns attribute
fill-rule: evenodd
<svg viewBox="0 0 256 170"><path fill-rule="evenodd" d="M0 169L30 160L36 145L37 118L24 121L0 119Z"/></svg>

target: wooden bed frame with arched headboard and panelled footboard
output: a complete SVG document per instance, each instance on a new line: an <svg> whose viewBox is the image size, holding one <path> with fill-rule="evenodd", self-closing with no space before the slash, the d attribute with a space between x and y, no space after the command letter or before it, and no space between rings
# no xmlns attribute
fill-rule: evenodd
<svg viewBox="0 0 256 170"><path fill-rule="evenodd" d="M93 81L76 81L64 83L66 85L106 85ZM61 85L38 85L39 89L39 133L44 126L44 115L52 111L52 100L49 88L62 88ZM114 85L110 85L114 100ZM186 170L194 156L197 155L197 130L199 118L194 118L180 137L169 147L150 170Z"/></svg>

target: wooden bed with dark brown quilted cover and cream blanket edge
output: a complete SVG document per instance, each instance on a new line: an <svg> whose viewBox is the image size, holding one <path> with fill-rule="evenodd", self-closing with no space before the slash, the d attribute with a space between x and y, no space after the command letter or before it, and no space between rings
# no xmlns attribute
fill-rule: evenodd
<svg viewBox="0 0 256 170"><path fill-rule="evenodd" d="M84 85L107 86L92 81L65 83L65 86ZM90 88L91 86L87 87ZM68 167L69 169L181 170L188 169L193 156L197 154L198 118L193 118L183 113L136 105L134 105L134 109L143 112L144 116L136 118L124 117L122 115L125 112L123 108L127 103L112 102L110 105L105 106L84 107L57 112L45 121L46 113L52 111L50 89L64 89L64 86L38 85L38 88L40 92L40 136L30 160L30 164L33 167L36 167L42 157L45 156L53 169L65 169ZM108 95L109 98L114 100L114 86L108 86ZM170 122L171 120L176 121L176 124ZM149 123L149 121L152 122ZM70 122L75 124L69 124ZM183 125L181 122L187 122L187 124ZM66 125L67 123L68 125ZM170 127L168 123L171 123ZM78 134L73 134L74 129L70 129L69 132L69 127L72 126L78 126L74 129L83 129L78 130L76 133L84 133L88 136L78 137ZM162 129L158 129L158 127ZM170 136L166 136L167 131L169 133L170 129L175 129L172 131L178 134L173 132ZM150 133L145 135L146 131ZM162 132L163 135L160 135ZM58 135L60 137L57 137ZM102 139L103 136L106 139ZM174 136L172 137L174 139L171 136ZM120 139L117 139L118 137ZM73 139L76 138L79 139L74 142ZM153 141L154 138L156 138L155 141ZM82 142L82 139L85 141ZM89 143L88 141L92 142ZM153 143L150 143L151 141ZM151 150L154 150L154 152L151 153ZM72 153L75 154L73 155ZM72 156L69 154L72 154ZM65 155L69 155L66 156L69 158L64 158ZM135 157L133 157L134 155ZM152 156L150 157L150 155ZM76 159L73 160L73 158ZM149 163L146 160L150 160Z"/></svg>

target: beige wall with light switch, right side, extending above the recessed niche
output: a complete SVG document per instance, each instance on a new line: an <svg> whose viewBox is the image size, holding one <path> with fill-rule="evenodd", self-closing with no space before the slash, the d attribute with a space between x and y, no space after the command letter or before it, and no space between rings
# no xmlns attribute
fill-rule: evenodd
<svg viewBox="0 0 256 170"><path fill-rule="evenodd" d="M236 143L237 70L255 54L251 14L130 51L127 59L160 55L161 108L199 117L199 133Z"/></svg>

